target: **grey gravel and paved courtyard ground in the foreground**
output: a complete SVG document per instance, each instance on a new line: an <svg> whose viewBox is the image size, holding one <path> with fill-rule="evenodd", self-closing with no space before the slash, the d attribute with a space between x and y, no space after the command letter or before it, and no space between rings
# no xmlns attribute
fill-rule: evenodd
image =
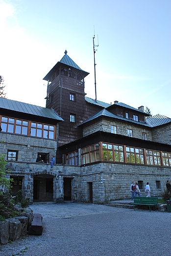
<svg viewBox="0 0 171 256"><path fill-rule="evenodd" d="M171 256L171 213L84 203L34 203L41 236L0 245L0 256Z"/></svg>

